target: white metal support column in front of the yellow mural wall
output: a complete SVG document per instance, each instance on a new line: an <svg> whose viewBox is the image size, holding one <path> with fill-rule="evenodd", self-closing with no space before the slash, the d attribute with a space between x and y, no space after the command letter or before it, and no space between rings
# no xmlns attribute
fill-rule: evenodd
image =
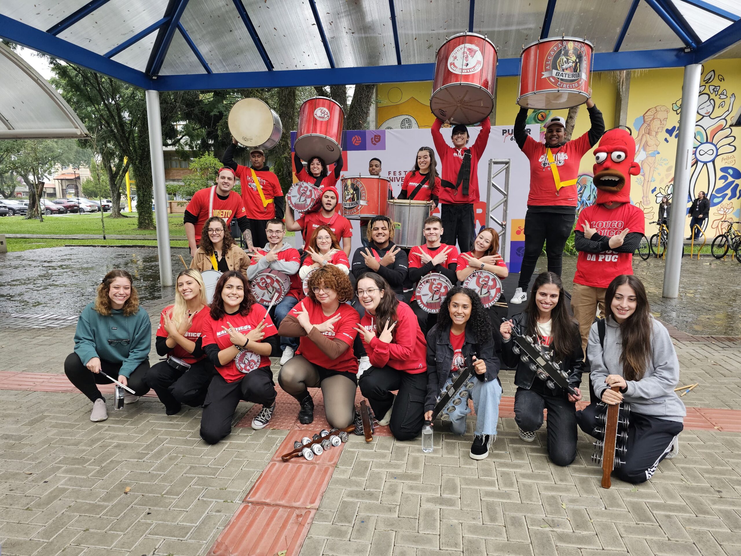
<svg viewBox="0 0 741 556"><path fill-rule="evenodd" d="M685 66L682 83L682 113L679 115L679 139L677 139L677 161L674 167L674 189L671 202L676 209L669 216L669 237L664 266L663 297L679 297L679 272L682 269L685 222L687 219L687 196L690 191L692 145L697 119L697 96L700 89L702 64Z"/></svg>

